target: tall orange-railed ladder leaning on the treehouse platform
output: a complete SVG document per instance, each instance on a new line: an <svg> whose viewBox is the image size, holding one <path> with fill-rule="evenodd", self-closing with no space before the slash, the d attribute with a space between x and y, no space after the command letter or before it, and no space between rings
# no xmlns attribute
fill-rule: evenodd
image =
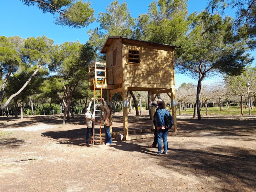
<svg viewBox="0 0 256 192"><path fill-rule="evenodd" d="M91 144L94 144L95 141L99 141L101 144L103 144L102 141L102 125L103 125L103 118L102 118L102 108L101 108L101 102L102 102L102 88L103 88L103 84L104 83L104 79L97 81L93 79L93 86L94 86L94 113L95 113L95 118L93 121L93 135L92 135L92 141ZM98 88L99 86L101 87L100 89L100 93L96 93L96 88ZM97 98L100 97L100 98ZM99 134L95 134L95 125L100 127L100 133ZM99 136L99 138L95 138L95 136Z"/></svg>

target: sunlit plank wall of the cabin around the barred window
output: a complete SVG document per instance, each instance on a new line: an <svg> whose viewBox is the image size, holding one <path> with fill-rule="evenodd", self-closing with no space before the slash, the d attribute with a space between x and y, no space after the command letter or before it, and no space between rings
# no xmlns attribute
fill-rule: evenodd
<svg viewBox="0 0 256 192"><path fill-rule="evenodd" d="M140 51L140 64L128 62L129 49ZM152 49L150 46L126 45L124 42L122 54L124 62L123 81L131 86L136 84L139 87L160 88L174 85L173 51Z"/></svg>

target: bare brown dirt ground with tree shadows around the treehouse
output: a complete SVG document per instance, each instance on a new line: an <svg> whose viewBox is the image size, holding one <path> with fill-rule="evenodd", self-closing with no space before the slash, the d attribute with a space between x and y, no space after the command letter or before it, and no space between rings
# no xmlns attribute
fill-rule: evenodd
<svg viewBox="0 0 256 192"><path fill-rule="evenodd" d="M150 128L129 115L129 128ZM121 113L113 130L122 130ZM85 146L77 115L0 118L0 191L256 191L256 118L178 116L168 154L155 156L153 138Z"/></svg>

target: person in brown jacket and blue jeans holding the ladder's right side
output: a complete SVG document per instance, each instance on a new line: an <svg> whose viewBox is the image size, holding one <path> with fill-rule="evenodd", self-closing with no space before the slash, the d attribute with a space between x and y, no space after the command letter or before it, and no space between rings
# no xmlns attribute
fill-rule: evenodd
<svg viewBox="0 0 256 192"><path fill-rule="evenodd" d="M112 125L112 115L111 115L111 107L107 105L107 103L102 98L103 104L101 103L101 108L104 112L103 121L104 121L104 130L105 130L105 144L110 145L112 143L111 134L110 134L110 126Z"/></svg>

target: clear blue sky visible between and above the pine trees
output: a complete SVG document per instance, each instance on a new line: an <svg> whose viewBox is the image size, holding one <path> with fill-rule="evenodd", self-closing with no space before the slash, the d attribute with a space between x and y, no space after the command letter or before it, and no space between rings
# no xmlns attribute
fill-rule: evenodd
<svg viewBox="0 0 256 192"><path fill-rule="evenodd" d="M113 0L90 0L91 7L95 10L95 17L99 12L105 12L106 6ZM125 0L128 8L131 11L132 17L138 17L141 13L147 13L148 5L153 0ZM123 1L120 1L122 3ZM189 0L189 14L194 11L202 11L207 6L207 0ZM231 15L232 16L232 15ZM37 7L27 7L20 0L0 0L0 36L20 36L22 38L38 37L45 35L54 40L54 43L60 44L67 41L79 40L85 43L89 36L87 31L94 29L99 24L95 21L87 28L75 29L54 24L54 16L46 13ZM256 51L252 53L256 56ZM197 81L185 75L175 74L175 84L180 86L181 83ZM216 81L216 77L206 79L204 82ZM218 80L217 80L218 81Z"/></svg>

